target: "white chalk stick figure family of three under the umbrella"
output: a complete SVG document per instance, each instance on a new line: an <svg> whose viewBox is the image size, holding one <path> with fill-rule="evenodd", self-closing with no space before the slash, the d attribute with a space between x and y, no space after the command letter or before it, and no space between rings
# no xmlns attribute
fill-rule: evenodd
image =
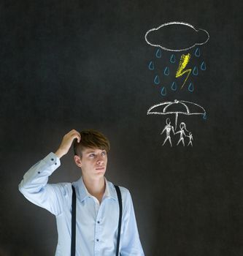
<svg viewBox="0 0 243 256"><path fill-rule="evenodd" d="M185 131L188 132L188 135L185 134ZM171 132L173 132L173 135L180 135L180 138L177 142L177 146L182 143L183 146L185 146L185 140L184 138L189 138L188 141L188 146L193 146L193 135L191 132L189 132L186 127L185 127L185 123L180 123L180 130L178 132L174 132L174 127L171 125L171 121L169 118L166 118L166 126L163 128L163 131L161 132L161 135L163 134L163 132L166 132L166 139L163 141L163 145L165 145L166 141L169 140L170 145L172 146L171 143Z"/></svg>

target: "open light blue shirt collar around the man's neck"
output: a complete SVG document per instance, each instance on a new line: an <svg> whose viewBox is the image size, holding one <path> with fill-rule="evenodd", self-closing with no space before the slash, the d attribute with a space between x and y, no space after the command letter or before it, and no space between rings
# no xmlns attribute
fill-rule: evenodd
<svg viewBox="0 0 243 256"><path fill-rule="evenodd" d="M104 182L106 184L106 188L104 190L104 197L113 198L117 200L117 193L115 191L114 185L111 182L107 181L107 178L105 177L104 177ZM85 200L86 197L92 196L88 192L88 189L85 187L82 177L77 181L77 187L78 187L79 197L81 202L82 200Z"/></svg>

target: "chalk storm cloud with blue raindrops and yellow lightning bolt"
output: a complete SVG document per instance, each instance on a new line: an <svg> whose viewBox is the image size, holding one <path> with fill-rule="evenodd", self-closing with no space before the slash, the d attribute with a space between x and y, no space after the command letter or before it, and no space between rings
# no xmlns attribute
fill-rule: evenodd
<svg viewBox="0 0 243 256"><path fill-rule="evenodd" d="M168 38L168 37L165 37L166 34L164 33L166 33L166 31L167 32L170 31L170 33L172 34L172 32L174 32L174 29L176 29L178 34L180 33L179 34L180 37L178 39L174 40L172 38L171 40L171 42L175 42L177 46L175 45L166 46L166 43L170 44L170 42L166 41L166 39L162 39L162 42L151 41L151 40L158 41L158 39L155 39L155 37L157 36L158 38L161 38L161 36L162 38ZM197 34L197 33L200 33L200 34ZM178 36L176 32L174 32L174 34L175 36ZM150 37L150 35L152 35L152 37ZM196 39L196 38L199 38L198 35L202 36L200 37L201 39ZM177 90L177 85L178 85L178 89L183 89L187 82L189 82L188 85L186 86L188 91L190 93L193 93L194 91L196 91L196 85L193 83L194 82L193 77L200 75L199 73L201 70L202 71L206 70L205 61L203 60L200 61L200 59L198 58L202 57L201 49L199 48L199 46L204 45L209 41L209 33L207 32L207 30L196 29L190 23L185 23L182 21L172 21L168 23L163 23L161 26L148 30L144 35L144 39L148 45L155 47L155 56L153 57L154 60L150 61L149 69L154 70L156 65L157 67L156 72L160 75L161 80L163 80L163 85L161 83L158 83L158 79L155 80L155 84L156 85L160 84L161 86L161 88L159 89L161 97L166 97L167 95L169 95L169 92L179 93L180 90ZM199 42L189 42L189 40L199 41ZM188 42L189 46L180 47L180 42ZM195 48L195 49L191 50L190 53L184 53L178 56L180 52L190 50L191 48ZM172 52L168 60L166 55L163 55L162 50ZM163 58L161 59L162 55L163 55ZM161 61L165 62L165 65L161 64ZM174 65L177 65L177 69L174 69L173 67ZM162 69L162 70L160 71L158 69ZM173 86L171 86L171 83L173 83L173 80L170 78L175 80L175 82L177 82L177 85L173 84ZM184 78L184 79L182 79L181 82L179 82L179 78Z"/></svg>

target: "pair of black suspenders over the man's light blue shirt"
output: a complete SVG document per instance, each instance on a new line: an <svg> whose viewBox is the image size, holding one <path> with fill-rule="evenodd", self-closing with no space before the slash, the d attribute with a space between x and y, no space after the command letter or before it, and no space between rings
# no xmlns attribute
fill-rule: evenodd
<svg viewBox="0 0 243 256"><path fill-rule="evenodd" d="M116 185L115 190L117 192L118 202L119 202L119 222L118 222L118 233L117 233L117 249L116 256L119 255L119 246L120 246L120 227L123 214L123 203L120 193L120 188ZM71 256L75 256L75 243L76 243L76 192L74 186L72 186L72 237L71 237Z"/></svg>

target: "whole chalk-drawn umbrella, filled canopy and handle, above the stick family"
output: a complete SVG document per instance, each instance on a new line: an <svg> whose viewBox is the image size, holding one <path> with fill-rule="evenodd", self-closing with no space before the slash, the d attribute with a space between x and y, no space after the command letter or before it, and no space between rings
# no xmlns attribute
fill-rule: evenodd
<svg viewBox="0 0 243 256"><path fill-rule="evenodd" d="M200 105L185 100L174 99L174 102L161 102L147 110L147 115L175 114L175 129L177 129L178 114L202 115L206 119L206 111Z"/></svg>

